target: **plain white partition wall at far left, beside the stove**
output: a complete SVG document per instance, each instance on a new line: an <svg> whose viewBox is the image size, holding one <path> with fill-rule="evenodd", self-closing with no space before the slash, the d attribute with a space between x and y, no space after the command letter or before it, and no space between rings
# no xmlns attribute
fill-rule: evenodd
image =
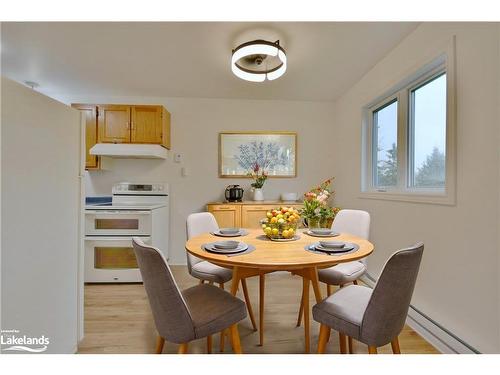
<svg viewBox="0 0 500 375"><path fill-rule="evenodd" d="M2 78L2 329L77 344L80 115Z"/></svg>

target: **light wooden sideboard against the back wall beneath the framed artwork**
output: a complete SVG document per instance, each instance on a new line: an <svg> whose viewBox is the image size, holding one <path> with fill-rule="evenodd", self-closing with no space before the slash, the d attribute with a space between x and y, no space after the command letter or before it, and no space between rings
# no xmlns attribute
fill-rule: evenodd
<svg viewBox="0 0 500 375"><path fill-rule="evenodd" d="M215 216L221 228L260 228L260 220L266 217L266 212L278 207L299 209L302 208L302 203L282 201L211 202L207 204L207 211Z"/></svg>

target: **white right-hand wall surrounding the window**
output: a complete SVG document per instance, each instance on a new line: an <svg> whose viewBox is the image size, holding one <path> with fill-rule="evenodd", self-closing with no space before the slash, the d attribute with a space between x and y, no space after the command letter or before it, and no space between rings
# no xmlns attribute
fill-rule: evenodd
<svg viewBox="0 0 500 375"><path fill-rule="evenodd" d="M398 248L425 242L412 304L481 352L500 352L499 34L496 24L423 24L334 106L337 203L368 210L378 276ZM457 204L360 199L361 108L453 35L457 53ZM341 161L341 162L340 162Z"/></svg>

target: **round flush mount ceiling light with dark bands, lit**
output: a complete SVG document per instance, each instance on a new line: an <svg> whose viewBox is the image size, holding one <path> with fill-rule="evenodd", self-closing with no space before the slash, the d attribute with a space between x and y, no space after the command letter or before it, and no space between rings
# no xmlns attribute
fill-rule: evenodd
<svg viewBox="0 0 500 375"><path fill-rule="evenodd" d="M231 70L234 75L252 82L273 81L286 72L286 53L280 41L253 40L233 49Z"/></svg>

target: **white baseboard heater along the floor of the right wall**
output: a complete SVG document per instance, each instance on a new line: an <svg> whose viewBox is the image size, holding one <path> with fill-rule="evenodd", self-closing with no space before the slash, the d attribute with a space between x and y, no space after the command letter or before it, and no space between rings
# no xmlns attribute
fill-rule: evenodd
<svg viewBox="0 0 500 375"><path fill-rule="evenodd" d="M377 280L366 273L361 280L373 288ZM406 323L427 342L445 354L480 354L479 350L450 332L428 315L410 305Z"/></svg>

